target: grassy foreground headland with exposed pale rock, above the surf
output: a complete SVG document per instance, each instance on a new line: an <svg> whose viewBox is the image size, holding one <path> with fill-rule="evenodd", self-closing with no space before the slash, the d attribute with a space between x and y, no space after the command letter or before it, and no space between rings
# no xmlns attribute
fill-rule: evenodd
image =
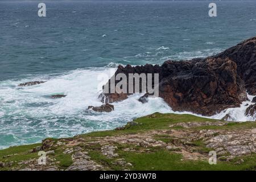
<svg viewBox="0 0 256 182"><path fill-rule="evenodd" d="M154 113L115 130L0 150L0 170L255 170L255 133L256 122ZM212 150L217 165L208 163Z"/></svg>

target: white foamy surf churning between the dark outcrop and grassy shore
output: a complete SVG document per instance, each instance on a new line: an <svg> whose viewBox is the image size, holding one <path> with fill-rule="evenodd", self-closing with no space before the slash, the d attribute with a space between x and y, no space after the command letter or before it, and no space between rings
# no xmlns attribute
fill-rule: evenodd
<svg viewBox="0 0 256 182"><path fill-rule="evenodd" d="M138 98L143 94L133 94L127 100L115 102L114 111L110 113L88 111L89 105L102 105L98 100L100 92L97 92L101 80L97 80L97 76L104 73L110 78L113 68L109 67L77 69L61 75L30 75L23 80L0 81L0 125L5 126L0 127L0 133L11 134L15 138L11 142L0 142L0 148L35 143L46 137L71 137L91 131L110 130L125 125L134 118L155 112L193 114L172 111L162 98L150 97L147 103L142 104L138 102ZM18 86L32 80L47 82L27 87ZM67 97L52 99L52 94L66 94ZM248 97L250 100L253 98ZM241 107L229 108L206 118L221 119L230 114L233 121L255 121L256 116L245 116L246 104L252 103L246 101Z"/></svg>

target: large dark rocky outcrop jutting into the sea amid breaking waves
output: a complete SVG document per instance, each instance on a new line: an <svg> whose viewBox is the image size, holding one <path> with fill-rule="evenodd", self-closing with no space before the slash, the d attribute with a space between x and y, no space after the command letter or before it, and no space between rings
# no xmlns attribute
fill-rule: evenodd
<svg viewBox="0 0 256 182"><path fill-rule="evenodd" d="M239 107L247 99L246 90L249 94L256 94L255 45L256 38L251 38L205 59L168 60L161 66L119 65L115 75L124 73L128 77L129 73L159 73L159 97L174 111L213 115L229 107ZM115 81L115 85L118 82ZM109 83L110 80L104 88ZM105 96L106 99L101 94L102 101L111 103L127 98L128 94Z"/></svg>

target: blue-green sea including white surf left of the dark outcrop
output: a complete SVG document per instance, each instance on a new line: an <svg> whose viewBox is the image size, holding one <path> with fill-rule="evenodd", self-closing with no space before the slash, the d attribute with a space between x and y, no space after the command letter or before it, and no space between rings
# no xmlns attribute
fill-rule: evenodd
<svg viewBox="0 0 256 182"><path fill-rule="evenodd" d="M205 57L255 36L256 2L216 1L0 1L0 148L113 129L155 111L170 112L160 98L145 105L139 95L112 113L86 111L101 105L101 73L118 64L162 64ZM45 84L19 88L21 82ZM62 93L67 97L49 98Z"/></svg>

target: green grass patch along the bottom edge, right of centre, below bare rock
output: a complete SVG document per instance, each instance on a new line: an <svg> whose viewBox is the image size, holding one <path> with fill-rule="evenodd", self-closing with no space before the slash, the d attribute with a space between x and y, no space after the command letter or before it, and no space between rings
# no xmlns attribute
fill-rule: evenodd
<svg viewBox="0 0 256 182"><path fill-rule="evenodd" d="M255 157L251 155L243 157L240 165L218 161L216 165L210 165L208 160L182 160L181 154L166 150L158 150L150 153L121 152L122 158L133 164L134 170L247 170L255 169Z"/></svg>

